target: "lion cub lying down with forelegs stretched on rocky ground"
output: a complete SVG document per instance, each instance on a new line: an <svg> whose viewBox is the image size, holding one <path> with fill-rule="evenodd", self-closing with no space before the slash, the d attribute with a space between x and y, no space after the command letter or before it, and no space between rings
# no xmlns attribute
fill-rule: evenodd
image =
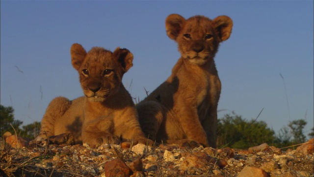
<svg viewBox="0 0 314 177"><path fill-rule="evenodd" d="M100 47L86 53L80 44L73 44L71 58L85 96L72 101L54 98L37 140L72 133L77 143L89 145L118 144L120 139L146 144L131 95L121 83L133 65L132 53L120 48L112 53Z"/></svg>

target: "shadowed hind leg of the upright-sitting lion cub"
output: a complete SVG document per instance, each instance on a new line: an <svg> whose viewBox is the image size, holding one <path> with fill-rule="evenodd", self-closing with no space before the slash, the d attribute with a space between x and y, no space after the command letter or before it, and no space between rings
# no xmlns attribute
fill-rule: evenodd
<svg viewBox="0 0 314 177"><path fill-rule="evenodd" d="M155 141L165 113L162 105L155 101L144 101L136 105L138 119L146 137Z"/></svg>

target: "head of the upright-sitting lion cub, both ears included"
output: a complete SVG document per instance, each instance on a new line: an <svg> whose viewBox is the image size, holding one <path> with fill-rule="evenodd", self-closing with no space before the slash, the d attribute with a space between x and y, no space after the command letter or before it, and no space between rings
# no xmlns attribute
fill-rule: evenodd
<svg viewBox="0 0 314 177"><path fill-rule="evenodd" d="M178 43L183 59L198 65L215 56L219 43L229 38L232 26L227 16L213 20L194 16L185 20L181 15L171 14L166 19L167 35Z"/></svg>

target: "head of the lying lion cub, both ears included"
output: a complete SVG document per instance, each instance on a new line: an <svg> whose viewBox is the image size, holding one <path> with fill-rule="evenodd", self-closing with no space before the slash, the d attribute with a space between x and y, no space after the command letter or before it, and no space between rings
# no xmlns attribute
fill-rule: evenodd
<svg viewBox="0 0 314 177"><path fill-rule="evenodd" d="M72 45L71 59L85 96L93 102L103 102L117 93L123 74L133 65L133 55L127 49L117 48L112 53L93 47L86 53L80 44Z"/></svg>

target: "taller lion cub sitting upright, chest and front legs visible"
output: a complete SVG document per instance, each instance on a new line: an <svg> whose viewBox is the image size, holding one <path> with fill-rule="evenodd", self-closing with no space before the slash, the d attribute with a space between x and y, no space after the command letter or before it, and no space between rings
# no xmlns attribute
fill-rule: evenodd
<svg viewBox="0 0 314 177"><path fill-rule="evenodd" d="M227 16L167 17L167 35L178 43L181 58L171 76L137 105L142 130L150 139L216 148L221 83L214 57L232 26Z"/></svg>

